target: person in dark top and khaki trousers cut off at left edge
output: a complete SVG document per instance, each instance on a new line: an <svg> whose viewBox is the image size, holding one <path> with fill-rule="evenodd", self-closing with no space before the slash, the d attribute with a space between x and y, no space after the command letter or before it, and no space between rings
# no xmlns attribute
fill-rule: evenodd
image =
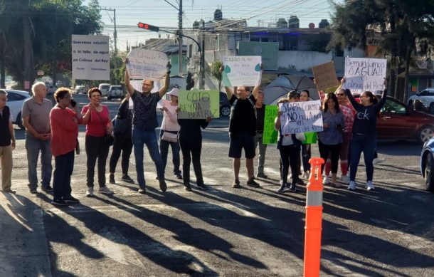
<svg viewBox="0 0 434 277"><path fill-rule="evenodd" d="M15 193L11 189L12 150L15 149L15 134L12 126L12 115L6 106L8 93L0 90L0 160L1 160L1 191Z"/></svg>

